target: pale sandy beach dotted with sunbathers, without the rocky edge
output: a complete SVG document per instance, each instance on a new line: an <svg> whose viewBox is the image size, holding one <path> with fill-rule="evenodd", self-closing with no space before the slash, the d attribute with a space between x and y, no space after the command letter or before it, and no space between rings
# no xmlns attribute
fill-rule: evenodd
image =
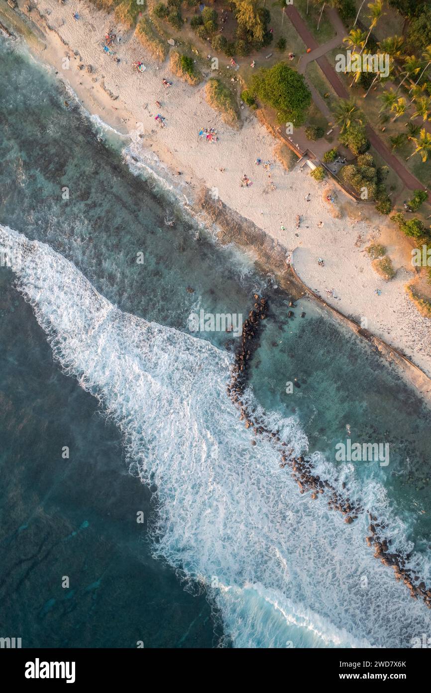
<svg viewBox="0 0 431 693"><path fill-rule="evenodd" d="M24 0L20 0L20 6L24 7ZM287 173L280 164L274 164L270 173L276 190L268 191L268 174L262 165L255 165L255 159L274 161L273 148L277 141L251 112L244 109L246 122L240 131L228 128L205 102L204 85L183 84L169 73L167 63L160 66L145 54L133 33L122 30L113 17L83 1L66 0L63 5L55 0L39 0L37 8L55 30L48 31L47 50L39 57L70 82L91 113L99 114L102 120L123 132L136 130L138 123L142 123L138 127L145 134L144 148L152 147L170 169L180 170L183 179L195 190L202 185L217 188L223 202L277 238L286 252L295 249L293 265L310 288L319 290L325 300L343 313L365 317L370 331L402 349L431 376L431 320L422 317L405 295L405 283L414 277L410 245L400 238L401 234L394 234L389 228L392 222L372 207L348 202L340 191L341 207L349 209L350 216L343 213L342 218L333 218L333 206L324 201L323 195L328 184L317 184L307 167L301 170L295 166ZM80 14L78 21L73 18L75 12ZM35 10L31 16L38 19ZM122 37L113 46L120 64L102 49L104 35L112 29ZM80 57L69 51L72 59L68 70L62 65L68 51L55 32L73 51L79 51ZM93 73L77 69L80 58L84 65L91 64ZM144 73L132 69L134 60L143 60L147 67ZM172 87L163 87L163 77L173 82ZM118 94L117 100L104 93L100 87L102 78L104 86ZM156 100L161 102L161 108L155 105ZM165 128L159 128L154 121L158 112L166 118ZM208 143L199 138L202 127L216 128L219 142ZM221 173L220 168L226 170ZM240 186L244 173L253 181L249 188ZM307 193L311 193L310 202L305 200ZM303 219L299 231L295 228L297 214ZM320 220L322 227L318 227ZM281 225L286 230L280 230ZM394 258L398 272L389 283L377 276L364 252L370 238L378 238L387 245L389 255ZM319 256L324 258L324 267L318 266ZM380 296L376 295L376 288L380 288ZM327 295L331 289L335 290L337 299Z"/></svg>

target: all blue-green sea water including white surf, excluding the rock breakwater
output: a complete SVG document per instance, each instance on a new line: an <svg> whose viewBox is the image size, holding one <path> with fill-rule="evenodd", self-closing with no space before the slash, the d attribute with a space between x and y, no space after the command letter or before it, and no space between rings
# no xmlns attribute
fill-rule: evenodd
<svg viewBox="0 0 431 693"><path fill-rule="evenodd" d="M288 297L187 215L186 186L0 41L0 240L22 256L0 272L2 627L46 647L409 647L429 611L373 558L367 518L347 527L250 445L232 336L188 318L268 295L247 397L429 583L428 411L309 301L288 320ZM347 425L390 464L336 463Z"/></svg>

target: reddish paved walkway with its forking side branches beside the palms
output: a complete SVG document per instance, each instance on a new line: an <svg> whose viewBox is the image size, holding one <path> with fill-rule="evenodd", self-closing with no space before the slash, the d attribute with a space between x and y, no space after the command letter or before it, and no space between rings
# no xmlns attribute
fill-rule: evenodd
<svg viewBox="0 0 431 693"><path fill-rule="evenodd" d="M340 16L338 15L338 12L334 9L329 10L328 16L336 28L337 35L336 37L331 39L331 41L327 42L326 44L323 44L322 46L319 46L318 42L315 40L315 38L307 28L304 19L302 19L300 13L297 11L295 7L293 7L292 5L286 6L286 14L288 15L293 26L297 30L297 33L302 38L304 44L311 48L311 52L306 53L306 55L304 55L301 58L299 71L300 73L304 74L304 77L311 91L311 95L313 96L315 104L318 106L322 114L328 118L329 116L331 116L329 108L327 104L324 103L324 100L322 99L320 94L318 94L317 90L313 87L313 85L309 84L309 80L307 80L305 75L305 70L307 64L309 64L309 62L311 62L312 60L315 60L320 69L322 69L324 76L331 84L331 87L336 92L337 96L339 96L340 98L349 98L349 96L351 95L348 93L347 89L342 84L340 78L338 78L335 69L333 69L333 67L329 63L329 60L326 58L326 53L332 51L334 48L340 45L342 41L341 33L344 36L346 36L347 30L345 30ZM407 170L405 166L403 166L401 161L397 159L397 157L393 155L392 152L389 151L385 143L383 143L380 137L378 137L378 134L374 132L372 127L370 125L366 125L365 130L367 132L367 137L374 149L378 152L378 154L380 154L380 157L382 157L382 159L386 161L389 168L392 168L396 172L396 174L401 178L405 186L410 190L415 190L418 188L422 190L424 187L423 184L412 173L410 173L410 171Z"/></svg>

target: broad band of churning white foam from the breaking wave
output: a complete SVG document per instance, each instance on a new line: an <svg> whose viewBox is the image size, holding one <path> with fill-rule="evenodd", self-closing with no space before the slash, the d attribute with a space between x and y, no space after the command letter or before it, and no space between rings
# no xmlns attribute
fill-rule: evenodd
<svg viewBox="0 0 431 693"><path fill-rule="evenodd" d="M424 604L365 545L366 518L345 525L324 495L297 493L269 443L250 444L225 392L228 354L122 313L48 245L1 226L0 243L21 250L17 287L55 358L99 398L131 469L156 486L154 555L208 586L237 647L410 647L431 632ZM306 447L297 420L268 416ZM396 524L380 486L360 492Z"/></svg>

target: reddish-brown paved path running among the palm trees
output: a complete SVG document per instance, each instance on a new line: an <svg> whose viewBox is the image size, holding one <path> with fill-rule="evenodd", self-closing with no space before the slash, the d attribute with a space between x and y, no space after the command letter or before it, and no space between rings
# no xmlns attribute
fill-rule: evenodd
<svg viewBox="0 0 431 693"><path fill-rule="evenodd" d="M328 44L332 44L332 42L335 41L335 39L331 40L327 44L324 44L323 46L319 46L318 42L315 40L315 38L307 28L304 20L302 19L300 13L297 11L296 8L294 8L292 5L286 6L286 15L288 15L289 19L291 19L293 26L295 27L297 33L304 41L304 44L311 48L311 53L307 53L307 58L311 58L313 53L315 53L315 61L318 63L320 69L322 69L324 76L327 78L327 80L333 87L333 90L336 92L337 96L339 96L340 98L349 98L349 96L351 95L348 93L347 89L340 81L340 78L338 78L336 71L333 69L333 67L329 63L329 60L324 55L324 53L327 52L326 46L328 46ZM334 21L334 25L336 26L336 30L338 32L341 27L344 29L344 26L342 26L340 17L338 17L338 19L335 19L334 15L338 17L338 12L336 12L336 10L330 10L329 17L331 18L331 21ZM344 30L344 33L345 35L347 35L346 30ZM338 44L336 44L337 46L340 43L338 33L336 39L338 40ZM321 51L322 54L320 55ZM306 62L306 64L308 64L308 62ZM319 101L316 102L316 105L320 107ZM410 188L410 190L415 190L417 188L422 190L424 187L423 184L412 173L410 173L410 171L407 170L407 168L405 168L403 164L401 164L401 161L399 161L399 159L397 159L396 156L392 154L392 152L390 152L385 143L381 141L380 137L378 137L378 134L374 132L370 125L367 125L365 130L367 132L367 137L374 149L376 149L376 151L380 154L380 157L382 157L386 161L389 168L394 169L394 171L401 178L405 186L407 188Z"/></svg>

